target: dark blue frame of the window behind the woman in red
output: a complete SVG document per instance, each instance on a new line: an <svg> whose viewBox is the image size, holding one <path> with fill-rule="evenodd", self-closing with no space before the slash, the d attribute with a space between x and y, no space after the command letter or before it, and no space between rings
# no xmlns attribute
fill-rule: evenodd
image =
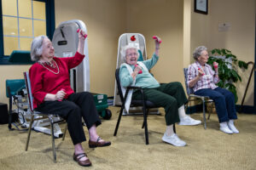
<svg viewBox="0 0 256 170"><path fill-rule="evenodd" d="M46 35L51 40L55 31L55 0L34 0L45 3L46 14ZM14 65L9 62L9 55L4 55L3 48L3 10L2 0L0 0L0 65ZM22 64L24 65L24 64ZM27 64L31 65L31 64Z"/></svg>

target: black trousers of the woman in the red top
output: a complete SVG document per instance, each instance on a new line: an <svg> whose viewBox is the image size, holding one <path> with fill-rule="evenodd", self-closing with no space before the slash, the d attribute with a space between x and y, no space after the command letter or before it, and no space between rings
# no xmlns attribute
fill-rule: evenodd
<svg viewBox="0 0 256 170"><path fill-rule="evenodd" d="M73 144L79 144L86 140L81 117L84 118L88 129L94 124L98 126L102 123L93 96L89 92L71 94L68 99L63 101L44 101L38 105L36 111L58 115L65 119Z"/></svg>

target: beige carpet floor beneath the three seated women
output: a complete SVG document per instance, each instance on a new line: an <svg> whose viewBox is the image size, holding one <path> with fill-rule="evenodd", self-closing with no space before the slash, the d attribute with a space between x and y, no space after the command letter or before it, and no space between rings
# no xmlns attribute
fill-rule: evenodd
<svg viewBox="0 0 256 170"><path fill-rule="evenodd" d="M68 133L64 141L55 139L57 163L54 163L49 135L32 131L25 151L26 132L10 132L7 125L1 125L0 169L256 169L256 115L238 115L239 134L220 132L216 115L207 121L207 130L202 125L177 126L178 136L188 145L174 147L161 141L165 131L162 110L161 116L148 116L149 144L146 145L141 128L143 117L123 116L118 135L113 137L119 108L110 109L112 119L102 121L97 131L103 139L111 140L112 145L90 149L87 142L83 143L92 167L79 167L73 161L73 144ZM192 117L202 119L202 114ZM88 136L86 127L84 131Z"/></svg>

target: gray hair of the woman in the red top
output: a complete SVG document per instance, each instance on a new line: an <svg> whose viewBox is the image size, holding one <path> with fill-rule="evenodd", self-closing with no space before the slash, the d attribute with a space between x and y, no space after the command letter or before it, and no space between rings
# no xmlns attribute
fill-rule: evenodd
<svg viewBox="0 0 256 170"><path fill-rule="evenodd" d="M38 36L35 37L31 44L31 60L38 61L43 54L43 42L44 38L48 38L47 36Z"/></svg>

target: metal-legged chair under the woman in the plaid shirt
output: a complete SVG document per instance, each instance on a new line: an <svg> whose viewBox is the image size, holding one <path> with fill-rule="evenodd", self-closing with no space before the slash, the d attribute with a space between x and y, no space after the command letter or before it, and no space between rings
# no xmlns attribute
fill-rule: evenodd
<svg viewBox="0 0 256 170"><path fill-rule="evenodd" d="M188 82L188 68L184 68L183 71L184 71L185 85L186 85L187 94L189 96L189 101L201 100L201 102L202 102L203 116L204 116L204 127L206 129L207 128L207 119L208 120L210 119L210 116L211 116L211 113L213 110L212 108L213 108L214 101L212 99L210 99L210 97L208 97L208 96L195 95L193 88L189 88L189 85L187 83ZM209 115L206 119L206 104L207 103L211 103L211 110L209 111ZM187 103L186 108L188 108L188 105L189 105L189 102Z"/></svg>

